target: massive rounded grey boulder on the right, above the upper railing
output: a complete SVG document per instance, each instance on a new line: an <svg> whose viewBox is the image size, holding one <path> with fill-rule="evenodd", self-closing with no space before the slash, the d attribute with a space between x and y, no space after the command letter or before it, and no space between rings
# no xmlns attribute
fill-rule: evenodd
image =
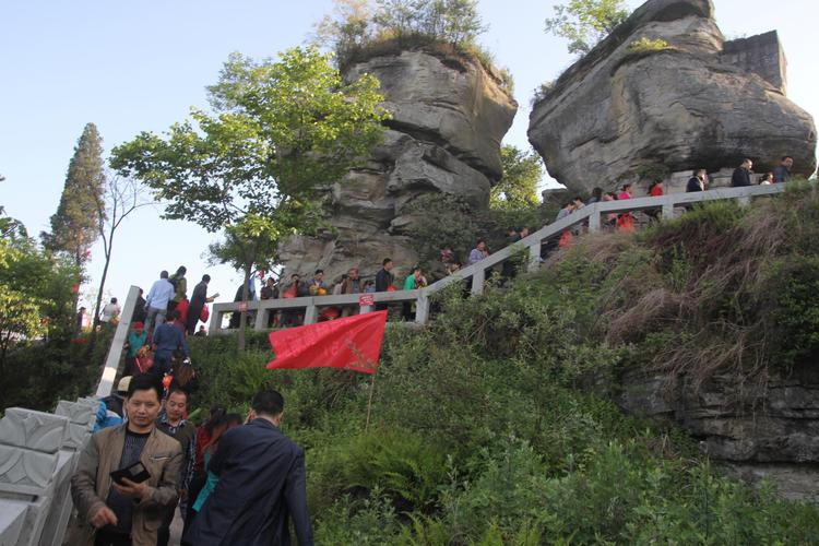
<svg viewBox="0 0 819 546"><path fill-rule="evenodd" d="M632 43L654 41L642 49ZM810 115L785 97L775 32L724 41L710 0L649 0L575 62L533 108L529 139L549 174L573 190L668 171L756 170L782 155L816 166Z"/></svg>

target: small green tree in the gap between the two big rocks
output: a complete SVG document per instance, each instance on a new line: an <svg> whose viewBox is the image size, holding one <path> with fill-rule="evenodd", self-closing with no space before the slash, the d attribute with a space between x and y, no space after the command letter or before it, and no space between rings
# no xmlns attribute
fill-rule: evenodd
<svg viewBox="0 0 819 546"><path fill-rule="evenodd" d="M537 185L543 179L543 162L534 152L511 144L500 150L503 177L489 193L490 209L526 209L537 205Z"/></svg>

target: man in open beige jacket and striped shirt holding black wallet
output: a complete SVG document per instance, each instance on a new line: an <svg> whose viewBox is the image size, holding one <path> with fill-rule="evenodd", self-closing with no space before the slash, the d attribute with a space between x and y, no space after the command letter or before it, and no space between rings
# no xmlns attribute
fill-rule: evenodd
<svg viewBox="0 0 819 546"><path fill-rule="evenodd" d="M84 543L95 546L154 546L163 514L177 502L182 448L154 425L162 406L154 376L131 380L128 422L95 434L71 478L71 497L90 525ZM150 478L112 483L110 473L141 462Z"/></svg>

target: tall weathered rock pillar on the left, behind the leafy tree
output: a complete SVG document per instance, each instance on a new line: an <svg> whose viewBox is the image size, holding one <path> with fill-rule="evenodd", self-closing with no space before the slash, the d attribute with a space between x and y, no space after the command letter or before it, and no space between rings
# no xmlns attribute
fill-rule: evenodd
<svg viewBox="0 0 819 546"><path fill-rule="evenodd" d="M406 229L419 218L407 205L442 192L486 206L501 176L500 141L518 105L496 74L460 56L425 50L375 57L353 66L346 78L363 73L379 79L392 114L384 141L364 168L333 186L330 223L336 233L285 246L285 275L321 268L337 280L357 266L370 277L385 257L401 275L418 259Z"/></svg>

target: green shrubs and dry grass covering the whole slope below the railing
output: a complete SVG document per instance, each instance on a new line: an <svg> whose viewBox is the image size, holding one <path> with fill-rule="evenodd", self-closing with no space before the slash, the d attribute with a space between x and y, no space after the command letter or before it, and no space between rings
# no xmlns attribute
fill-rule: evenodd
<svg viewBox="0 0 819 546"><path fill-rule="evenodd" d="M818 218L814 188L714 203L590 237L505 290L453 289L430 327L388 332L369 427L367 377L265 370L258 334L238 359L229 337L193 340L197 400L283 391L321 544L809 543L814 506L722 477L685 434L583 385L633 364L705 377L814 358Z"/></svg>

